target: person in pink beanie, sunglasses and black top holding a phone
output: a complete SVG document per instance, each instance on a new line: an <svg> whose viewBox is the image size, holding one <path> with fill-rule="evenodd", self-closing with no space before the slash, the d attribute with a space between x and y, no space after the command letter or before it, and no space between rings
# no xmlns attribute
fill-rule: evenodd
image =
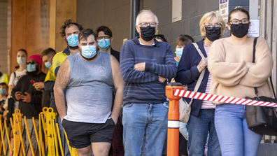
<svg viewBox="0 0 277 156"><path fill-rule="evenodd" d="M20 113L27 118L27 125L29 134L31 134L31 143L33 147L36 147L37 142L35 133L31 133L33 129L31 118L35 118L36 128L38 129L38 114L42 111L41 99L43 95L43 92L33 87L33 83L44 82L46 75L41 71L41 66L41 55L31 55L27 60L27 75L20 78L17 85L12 90L13 100L19 101L18 108L20 109ZM22 120L22 124L24 125L24 120ZM24 143L26 143L24 147L27 147L29 144L27 135L24 139ZM28 150L28 155L31 155L30 149Z"/></svg>

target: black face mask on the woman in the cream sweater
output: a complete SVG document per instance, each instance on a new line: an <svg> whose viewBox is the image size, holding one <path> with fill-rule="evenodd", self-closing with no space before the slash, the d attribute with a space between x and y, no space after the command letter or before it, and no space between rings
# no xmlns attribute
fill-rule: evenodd
<svg viewBox="0 0 277 156"><path fill-rule="evenodd" d="M236 36L237 38L243 38L248 34L248 26L249 23L247 24L230 24L231 25L231 34Z"/></svg>

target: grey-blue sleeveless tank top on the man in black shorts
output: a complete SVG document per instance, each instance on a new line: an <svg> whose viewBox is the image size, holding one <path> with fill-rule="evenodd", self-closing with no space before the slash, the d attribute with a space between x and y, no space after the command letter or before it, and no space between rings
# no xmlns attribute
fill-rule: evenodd
<svg viewBox="0 0 277 156"><path fill-rule="evenodd" d="M66 120L105 123L113 103L111 54L98 53L97 59L85 61L80 53L70 55L70 79L66 86Z"/></svg>

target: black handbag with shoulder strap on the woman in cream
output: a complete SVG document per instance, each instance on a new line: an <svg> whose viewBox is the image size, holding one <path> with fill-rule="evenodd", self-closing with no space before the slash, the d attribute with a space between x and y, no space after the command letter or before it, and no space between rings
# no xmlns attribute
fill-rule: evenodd
<svg viewBox="0 0 277 156"><path fill-rule="evenodd" d="M255 63L255 50L256 50L257 38L254 40L253 47L253 63ZM271 87L274 91L270 76ZM257 97L246 99L253 99L257 101L267 101L277 103L276 95L274 92L274 99L271 97L259 97L257 87L254 87ZM246 121L248 128L257 133L270 136L277 136L277 108L267 106L246 106Z"/></svg>

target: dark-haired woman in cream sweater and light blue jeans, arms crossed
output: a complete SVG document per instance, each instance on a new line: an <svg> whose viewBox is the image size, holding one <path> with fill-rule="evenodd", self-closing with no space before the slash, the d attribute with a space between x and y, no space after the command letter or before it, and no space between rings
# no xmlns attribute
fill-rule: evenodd
<svg viewBox="0 0 277 156"><path fill-rule="evenodd" d="M255 63L253 59L254 38L248 37L249 13L235 8L229 13L228 28L231 36L215 41L208 55L211 72L211 94L229 97L272 97L268 81L273 67L271 50L264 38L257 38ZM213 102L213 104L216 104ZM246 106L219 104L215 108L215 129L220 141L222 155L256 155L262 135L248 129Z"/></svg>

